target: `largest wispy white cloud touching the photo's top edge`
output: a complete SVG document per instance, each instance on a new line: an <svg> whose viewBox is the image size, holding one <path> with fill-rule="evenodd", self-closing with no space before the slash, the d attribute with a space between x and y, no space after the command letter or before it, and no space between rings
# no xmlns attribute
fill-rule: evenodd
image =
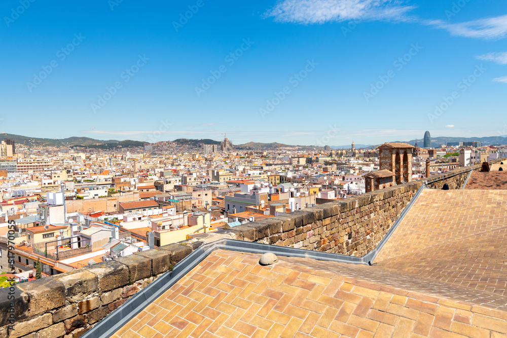
<svg viewBox="0 0 507 338"><path fill-rule="evenodd" d="M393 20L405 21L414 6L400 0L280 0L266 16L289 23L324 23L330 21Z"/></svg>

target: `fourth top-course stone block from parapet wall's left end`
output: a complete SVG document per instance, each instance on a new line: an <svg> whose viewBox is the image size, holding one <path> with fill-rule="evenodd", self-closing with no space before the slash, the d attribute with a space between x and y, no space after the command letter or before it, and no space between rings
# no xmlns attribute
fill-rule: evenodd
<svg viewBox="0 0 507 338"><path fill-rule="evenodd" d="M116 260L97 263L85 269L97 276L101 292L125 286L129 282L128 267Z"/></svg>

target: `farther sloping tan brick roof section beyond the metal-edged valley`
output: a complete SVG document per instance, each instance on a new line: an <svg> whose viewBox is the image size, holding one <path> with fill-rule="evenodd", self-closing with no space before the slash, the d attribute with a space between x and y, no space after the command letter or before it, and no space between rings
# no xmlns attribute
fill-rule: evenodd
<svg viewBox="0 0 507 338"><path fill-rule="evenodd" d="M507 191L425 189L375 262L433 283L507 296L506 203Z"/></svg>

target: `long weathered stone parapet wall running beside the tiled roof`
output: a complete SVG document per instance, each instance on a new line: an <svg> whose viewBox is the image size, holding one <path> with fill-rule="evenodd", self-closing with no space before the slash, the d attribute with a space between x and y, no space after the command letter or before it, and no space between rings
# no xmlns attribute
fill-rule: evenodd
<svg viewBox="0 0 507 338"><path fill-rule="evenodd" d="M0 289L0 336L79 337L193 250L223 238L364 256L423 183L441 189L447 182L450 189L460 189L470 170L479 169L460 168ZM8 331L11 309L15 324Z"/></svg>

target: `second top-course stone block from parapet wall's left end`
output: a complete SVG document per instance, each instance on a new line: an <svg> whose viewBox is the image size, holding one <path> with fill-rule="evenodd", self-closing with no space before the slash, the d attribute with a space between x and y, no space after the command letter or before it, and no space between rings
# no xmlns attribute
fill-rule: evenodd
<svg viewBox="0 0 507 338"><path fill-rule="evenodd" d="M29 298L27 316L34 316L65 305L65 286L53 277L18 284L18 287Z"/></svg>

